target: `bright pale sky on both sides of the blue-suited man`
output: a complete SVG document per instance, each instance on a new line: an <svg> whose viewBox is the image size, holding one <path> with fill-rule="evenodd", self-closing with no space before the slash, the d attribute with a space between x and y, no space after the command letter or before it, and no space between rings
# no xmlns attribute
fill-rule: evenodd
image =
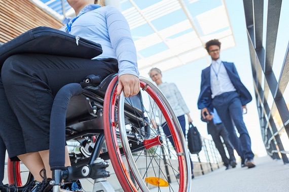
<svg viewBox="0 0 289 192"><path fill-rule="evenodd" d="M252 142L252 151L258 156L266 156L255 99L254 86L246 36L245 17L242 1L226 1L236 46L221 52L221 59L234 62L243 84L252 95L253 100L248 103L247 114L244 122L247 126ZM214 19L213 17L211 19ZM215 21L220 22L220 21ZM187 65L179 66L163 72L163 81L173 82L178 86L180 92L191 110L194 125L201 135L207 138L206 124L200 120L200 111L197 109L197 99L200 93L201 70L208 66L208 58L203 58ZM148 76L147 76L148 77Z"/></svg>

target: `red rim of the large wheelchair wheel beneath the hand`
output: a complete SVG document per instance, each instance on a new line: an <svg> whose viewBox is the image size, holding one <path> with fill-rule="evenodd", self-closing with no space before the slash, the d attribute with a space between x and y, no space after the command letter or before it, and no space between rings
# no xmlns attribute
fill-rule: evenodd
<svg viewBox="0 0 289 192"><path fill-rule="evenodd" d="M110 85L107 87L105 97L104 97L104 105L103 105L103 124L104 124L104 135L106 140L107 149L109 150L109 156L113 165L113 168L116 172L116 176L123 187L124 191L137 191L137 188L135 187L133 181L130 179L129 173L125 167L124 162L122 161L121 152L118 146L117 142L117 136L116 136L116 127L115 127L115 104L117 101L117 95L116 95L116 88L117 88L117 81L118 77L116 76ZM146 86L146 83L140 82L140 87L144 88ZM160 100L158 95L155 93L155 91L148 86L146 88L146 91L148 94L155 100L157 105L162 110L164 117L167 121L168 127L170 129L173 141L175 142L175 148L177 153L184 153L182 144L180 144L180 140L177 136L177 132L175 130L174 123L167 111L167 108L163 104L163 102ZM107 142L112 141L112 142ZM185 158L184 156L177 156L178 158L178 164L179 164L179 174L180 174L180 181L179 181L179 190L178 191L185 191L186 187L185 184L185 177L182 177L182 175L185 175L186 173L185 169Z"/></svg>

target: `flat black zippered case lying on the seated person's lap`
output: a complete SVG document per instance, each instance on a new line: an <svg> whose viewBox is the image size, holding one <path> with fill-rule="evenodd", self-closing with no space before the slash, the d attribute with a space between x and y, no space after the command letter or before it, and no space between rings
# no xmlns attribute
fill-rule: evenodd
<svg viewBox="0 0 289 192"><path fill-rule="evenodd" d="M50 27L37 27L0 46L0 69L11 55L40 53L92 59L102 53L101 46L82 37Z"/></svg>

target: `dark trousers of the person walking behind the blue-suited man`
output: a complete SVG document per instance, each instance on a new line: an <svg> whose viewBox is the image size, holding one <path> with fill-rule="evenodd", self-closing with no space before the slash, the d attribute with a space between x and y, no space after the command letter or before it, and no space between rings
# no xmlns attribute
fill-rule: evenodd
<svg viewBox="0 0 289 192"><path fill-rule="evenodd" d="M224 165L228 166L231 161L236 161L235 156L234 156L234 149L233 149L233 146L229 140L228 131L226 130L224 124L221 123L218 125L214 125L212 122L210 122L208 124L208 126L213 126L213 128L210 129L210 134L211 134L212 139L215 143L215 147L218 149L218 151L222 157ZM225 143L226 148L228 150L230 159L228 159L228 157L226 155L226 151L225 151L223 142L222 142L220 137L222 137L224 140L224 143Z"/></svg>

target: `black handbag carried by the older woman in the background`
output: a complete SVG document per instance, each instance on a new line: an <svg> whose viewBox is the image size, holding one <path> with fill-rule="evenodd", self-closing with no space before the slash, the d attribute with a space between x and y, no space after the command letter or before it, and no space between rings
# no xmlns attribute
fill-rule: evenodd
<svg viewBox="0 0 289 192"><path fill-rule="evenodd" d="M202 150L202 139L198 129L189 123L189 131L187 135L188 147L192 154L197 154Z"/></svg>

